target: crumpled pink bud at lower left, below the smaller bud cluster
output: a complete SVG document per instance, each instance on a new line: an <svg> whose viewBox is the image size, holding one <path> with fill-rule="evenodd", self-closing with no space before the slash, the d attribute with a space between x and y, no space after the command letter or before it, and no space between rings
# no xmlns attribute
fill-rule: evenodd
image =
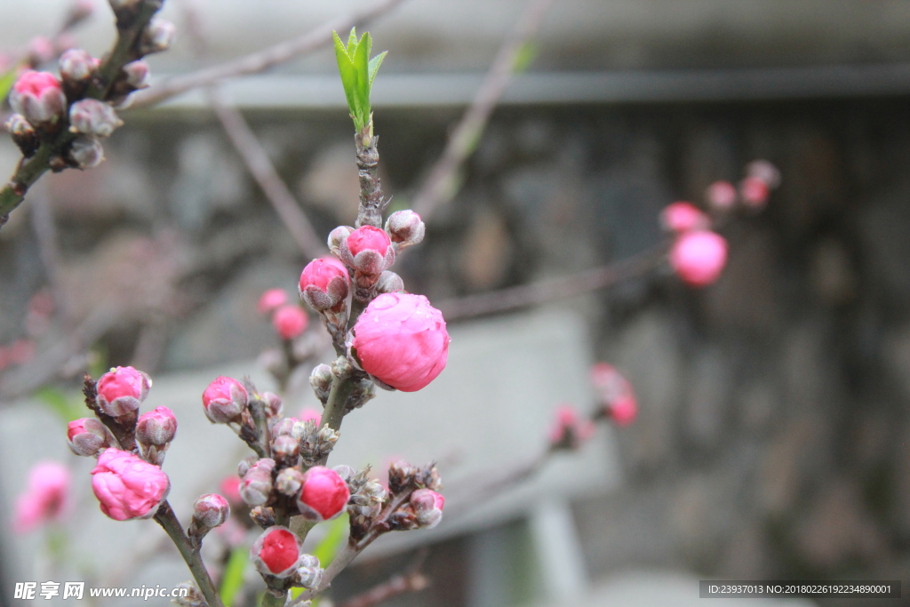
<svg viewBox="0 0 910 607"><path fill-rule="evenodd" d="M127 451L107 449L92 470L101 511L115 521L149 519L167 498L170 481L160 468Z"/></svg>

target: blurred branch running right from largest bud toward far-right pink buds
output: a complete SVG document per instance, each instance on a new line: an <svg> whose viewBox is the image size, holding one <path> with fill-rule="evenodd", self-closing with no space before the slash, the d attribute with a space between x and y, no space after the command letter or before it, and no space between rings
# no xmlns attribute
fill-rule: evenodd
<svg viewBox="0 0 910 607"><path fill-rule="evenodd" d="M612 287L622 280L642 276L656 268L666 255L667 245L661 244L642 253L607 264L519 287L502 288L488 293L440 301L437 307L446 320L470 319L484 314L527 308L556 299L571 298L582 293Z"/></svg>

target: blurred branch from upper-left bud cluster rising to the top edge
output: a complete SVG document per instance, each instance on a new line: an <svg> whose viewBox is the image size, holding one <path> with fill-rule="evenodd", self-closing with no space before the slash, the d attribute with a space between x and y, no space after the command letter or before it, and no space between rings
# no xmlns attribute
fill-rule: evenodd
<svg viewBox="0 0 910 607"><path fill-rule="evenodd" d="M271 67L331 44L333 31L347 32L351 27L365 25L379 16L385 15L401 2L403 0L382 0L364 11L320 25L298 38L269 46L265 50L238 57L217 66L206 67L184 76L175 76L161 85L152 86L136 93L130 107L155 106L194 88L211 86L227 78L264 72Z"/></svg>

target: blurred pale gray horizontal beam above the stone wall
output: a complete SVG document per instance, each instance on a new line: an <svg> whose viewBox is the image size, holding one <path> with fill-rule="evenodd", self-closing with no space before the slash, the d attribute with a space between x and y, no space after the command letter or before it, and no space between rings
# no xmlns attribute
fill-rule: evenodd
<svg viewBox="0 0 910 607"><path fill-rule="evenodd" d="M463 106L482 74L386 75L376 81L377 107ZM225 83L234 104L246 108L341 108L334 75L249 76ZM517 76L504 105L740 101L910 94L910 64L649 72L554 72ZM165 108L206 107L193 91Z"/></svg>

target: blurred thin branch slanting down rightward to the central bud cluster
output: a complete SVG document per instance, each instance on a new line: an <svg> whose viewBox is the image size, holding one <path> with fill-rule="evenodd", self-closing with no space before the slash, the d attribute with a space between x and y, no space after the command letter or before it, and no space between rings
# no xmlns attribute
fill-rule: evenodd
<svg viewBox="0 0 910 607"><path fill-rule="evenodd" d="M250 174L262 188L268 202L275 208L278 217L284 222L300 250L311 258L326 255L329 249L322 243L307 216L300 210L297 199L278 176L278 171L272 165L266 150L238 109L221 101L215 91L209 91L208 99L227 137L243 158Z"/></svg>

